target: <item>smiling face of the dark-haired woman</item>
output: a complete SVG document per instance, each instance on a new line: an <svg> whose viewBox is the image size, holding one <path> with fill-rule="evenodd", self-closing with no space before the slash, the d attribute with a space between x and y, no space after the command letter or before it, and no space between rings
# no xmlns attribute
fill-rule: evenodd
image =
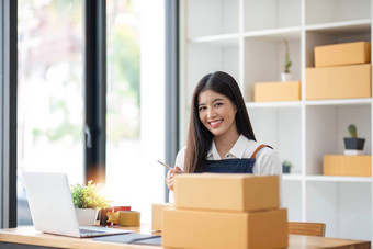
<svg viewBox="0 0 373 249"><path fill-rule="evenodd" d="M202 124L215 136L237 135L237 107L229 98L204 90L199 95L199 116Z"/></svg>

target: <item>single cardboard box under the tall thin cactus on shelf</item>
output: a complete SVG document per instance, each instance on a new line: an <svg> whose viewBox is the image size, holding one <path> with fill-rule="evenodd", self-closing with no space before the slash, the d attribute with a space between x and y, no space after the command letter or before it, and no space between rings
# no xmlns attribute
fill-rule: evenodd
<svg viewBox="0 0 373 249"><path fill-rule="evenodd" d="M299 101L301 82L259 82L253 87L255 102Z"/></svg>

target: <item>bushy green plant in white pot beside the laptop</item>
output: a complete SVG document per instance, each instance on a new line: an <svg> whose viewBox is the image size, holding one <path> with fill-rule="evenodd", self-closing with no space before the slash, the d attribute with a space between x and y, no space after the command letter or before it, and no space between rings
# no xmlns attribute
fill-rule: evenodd
<svg viewBox="0 0 373 249"><path fill-rule="evenodd" d="M80 226L91 226L98 215L98 211L110 206L110 201L101 193L101 184L89 181L87 185L71 185L74 205Z"/></svg>

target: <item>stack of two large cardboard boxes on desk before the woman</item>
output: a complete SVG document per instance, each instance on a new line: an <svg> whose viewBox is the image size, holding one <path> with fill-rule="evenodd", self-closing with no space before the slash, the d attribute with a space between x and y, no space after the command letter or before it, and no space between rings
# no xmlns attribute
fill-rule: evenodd
<svg viewBox="0 0 373 249"><path fill-rule="evenodd" d="M181 174L174 208L162 214L167 248L285 248L287 213L279 177Z"/></svg>

